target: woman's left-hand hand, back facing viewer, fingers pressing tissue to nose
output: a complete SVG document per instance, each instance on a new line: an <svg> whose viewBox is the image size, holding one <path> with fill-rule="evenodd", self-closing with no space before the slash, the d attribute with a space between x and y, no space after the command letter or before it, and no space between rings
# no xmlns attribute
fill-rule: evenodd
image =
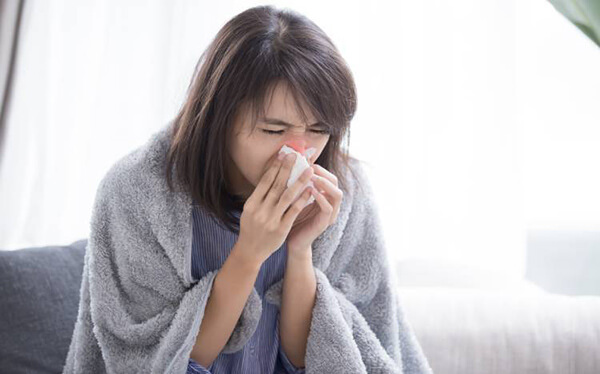
<svg viewBox="0 0 600 374"><path fill-rule="evenodd" d="M296 217L310 198L310 188L306 188L300 198L294 201L300 189L312 177L312 168L304 170L296 182L287 188L294 163L293 157L283 160L275 158L244 203L238 243L246 258L260 264L281 247Z"/></svg>

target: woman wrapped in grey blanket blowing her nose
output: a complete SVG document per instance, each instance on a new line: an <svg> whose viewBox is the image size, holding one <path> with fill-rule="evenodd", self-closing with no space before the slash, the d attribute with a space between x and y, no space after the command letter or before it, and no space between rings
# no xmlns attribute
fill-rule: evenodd
<svg viewBox="0 0 600 374"><path fill-rule="evenodd" d="M260 6L198 67L174 121L100 183L63 372L431 372L342 149L356 90L333 43ZM315 150L289 187L285 145Z"/></svg>

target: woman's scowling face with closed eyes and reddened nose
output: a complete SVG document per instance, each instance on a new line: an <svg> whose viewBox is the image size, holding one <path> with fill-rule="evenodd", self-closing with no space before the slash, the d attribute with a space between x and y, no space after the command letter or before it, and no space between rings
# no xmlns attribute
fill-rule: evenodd
<svg viewBox="0 0 600 374"><path fill-rule="evenodd" d="M252 131L250 114L240 113L233 124L228 154L227 174L232 193L248 198L285 144L298 144L305 149L315 148L309 163L314 163L329 140L327 128L316 124L303 103L303 110L311 121L300 123L291 93L285 84L278 84L265 108L265 118L259 118ZM278 122L278 123L277 123ZM285 125L283 122L289 124ZM273 133L268 133L271 131Z"/></svg>

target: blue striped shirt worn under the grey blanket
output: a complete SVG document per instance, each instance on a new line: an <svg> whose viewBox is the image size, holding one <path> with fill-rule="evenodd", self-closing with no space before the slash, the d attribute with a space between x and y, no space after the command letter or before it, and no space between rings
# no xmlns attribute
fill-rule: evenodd
<svg viewBox="0 0 600 374"><path fill-rule="evenodd" d="M238 219L241 212L233 211ZM202 278L207 272L220 269L237 241L238 234L229 231L216 218L198 205L193 211L192 277ZM205 368L190 358L187 374L198 373L304 373L295 367L279 341L279 308L266 302L264 293L283 278L287 258L287 243L275 251L261 266L254 288L263 300L262 315L254 335L239 351L221 352Z"/></svg>

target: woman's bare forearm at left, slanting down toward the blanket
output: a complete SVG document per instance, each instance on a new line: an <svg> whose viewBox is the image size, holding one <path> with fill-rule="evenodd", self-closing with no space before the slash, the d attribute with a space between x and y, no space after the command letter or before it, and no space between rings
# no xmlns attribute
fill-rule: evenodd
<svg viewBox="0 0 600 374"><path fill-rule="evenodd" d="M254 287L260 265L244 258L237 243L231 250L213 282L190 354L200 365L210 366L227 344Z"/></svg>

